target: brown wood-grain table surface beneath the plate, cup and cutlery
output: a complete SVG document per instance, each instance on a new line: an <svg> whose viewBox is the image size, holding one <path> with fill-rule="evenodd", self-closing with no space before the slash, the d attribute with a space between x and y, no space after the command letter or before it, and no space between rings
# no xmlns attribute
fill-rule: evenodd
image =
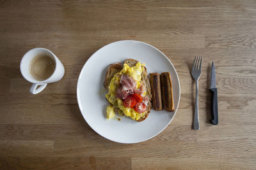
<svg viewBox="0 0 256 170"><path fill-rule="evenodd" d="M256 167L255 1L1 1L0 169L240 169ZM180 105L155 138L125 145L102 138L76 99L79 73L100 47L123 39L165 53L180 78ZM54 52L61 81L38 95L20 74L31 48ZM191 129L203 55L200 131ZM219 125L209 124L209 74L216 65Z"/></svg>

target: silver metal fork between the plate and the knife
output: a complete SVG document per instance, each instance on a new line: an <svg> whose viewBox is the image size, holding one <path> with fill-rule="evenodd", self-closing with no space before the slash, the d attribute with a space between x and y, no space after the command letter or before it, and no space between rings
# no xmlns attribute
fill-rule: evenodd
<svg viewBox="0 0 256 170"><path fill-rule="evenodd" d="M202 56L196 56L192 69L191 74L196 81L196 102L195 102L195 115L194 115L194 124L193 127L195 130L199 130L199 118L198 118L198 80L201 76L201 68L202 68Z"/></svg>

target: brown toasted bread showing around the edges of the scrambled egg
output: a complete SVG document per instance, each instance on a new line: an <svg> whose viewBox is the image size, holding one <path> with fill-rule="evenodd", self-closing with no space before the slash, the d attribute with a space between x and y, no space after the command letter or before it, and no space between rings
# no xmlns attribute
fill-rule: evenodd
<svg viewBox="0 0 256 170"><path fill-rule="evenodd" d="M126 59L124 61L124 63L127 64L129 67L136 66L137 62L138 62L138 60L134 60L134 59ZM106 89L108 89L109 83L110 83L111 79L113 78L113 76L115 75L115 73L120 72L122 70L122 68L123 68L123 66L120 62L111 64L108 66L105 81L104 81L104 87ZM152 108L151 87L150 87L150 82L147 77L146 67L144 67L143 73L141 74L141 81L144 81L143 83L145 83L145 85L146 85L146 96L148 97L148 105L147 105L147 113L145 114L145 117L141 117L140 119L136 120L137 122L141 122L141 121L145 120L148 117L148 114L150 113L150 110ZM118 111L119 115L122 115L122 114L124 115L124 113L122 113L122 110L119 110L118 108L115 108L115 110ZM120 113L122 113L122 114L120 114Z"/></svg>

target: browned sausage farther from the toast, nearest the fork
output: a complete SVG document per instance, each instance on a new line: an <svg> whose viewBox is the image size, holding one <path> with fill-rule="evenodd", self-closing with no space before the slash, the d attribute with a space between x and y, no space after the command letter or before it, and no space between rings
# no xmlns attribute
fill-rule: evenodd
<svg viewBox="0 0 256 170"><path fill-rule="evenodd" d="M169 72L161 73L160 79L164 109L174 111L171 75Z"/></svg>

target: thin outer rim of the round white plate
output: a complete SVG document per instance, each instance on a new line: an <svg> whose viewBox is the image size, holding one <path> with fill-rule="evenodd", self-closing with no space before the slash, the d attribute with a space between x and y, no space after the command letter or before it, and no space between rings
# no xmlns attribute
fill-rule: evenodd
<svg viewBox="0 0 256 170"><path fill-rule="evenodd" d="M178 79L178 84L179 84L179 101L178 101L178 104L177 104L177 108L176 108L176 110L175 110L175 112L174 112L174 114L173 114L173 117L170 119L170 121L168 122L168 124L166 124L166 126L165 126L161 131L157 132L157 134L154 134L154 135L151 136L150 138L143 139L143 140L140 140L140 141L137 141L137 142L120 142L120 141L115 141L115 140L109 139L108 137L106 137L106 136L104 136L104 135L102 135L102 134L99 134L99 132L95 131L95 129L93 129L93 127L86 121L86 118L84 117L84 115L83 115L83 113L82 113L82 111L81 111L81 106L80 106L80 105L81 105L81 101L80 101L81 99L79 98L79 94L78 94L78 91L79 91L78 85L79 85L79 82L81 81L81 74L83 73L83 70L84 70L84 67L86 67L86 64L88 64L88 61L89 61L90 59L92 59L93 55L95 55L97 52L99 52L99 50L101 50L102 48L105 48L106 46L113 45L114 43L125 42L125 41L126 41L126 42L142 43L142 44L148 45L148 46L154 48L155 50L157 50L158 52L160 52L160 53L170 62L170 64L172 65L172 67L173 67L173 69L174 69L174 71L175 71L175 74L176 74L176 76L177 76L177 79ZM99 135L102 136L103 138L108 139L109 141L113 141L113 142L116 142L116 143L124 143L124 144L141 143L141 142L143 142L143 141L147 141L147 140L149 140L149 139L152 139L152 138L156 137L158 134L160 134L161 132L163 132L164 129L166 129L166 127L168 127L168 125L170 125L170 123L172 122L173 118L175 117L175 115L176 115L176 113L177 113L177 110L179 109L179 103L180 103L180 79L179 79L179 75L178 75L178 73L177 73L175 67L173 66L171 60L170 60L163 52L161 52L159 49L157 49L155 46L152 46L152 45L150 45L150 44L148 44L148 43L145 43L145 42L143 42L143 41L136 41L136 40L129 40L129 39L127 39L127 40L120 40L120 41L114 41L114 42L112 42L112 43L108 43L107 45L104 45L104 46L100 47L96 52L94 52L94 53L89 57L89 59L86 60L86 62L84 63L84 66L82 67L82 69L81 69L81 71L80 71L80 73L79 73L78 80L77 80L77 88L76 88L76 89L77 89L77 90L76 90L76 94L77 94L77 95L76 95L76 96L77 96L77 104L78 104L78 106L79 106L80 113L82 114L82 116L83 116L85 122L86 122L86 123L93 129L93 131L95 131L97 134L99 134Z"/></svg>

